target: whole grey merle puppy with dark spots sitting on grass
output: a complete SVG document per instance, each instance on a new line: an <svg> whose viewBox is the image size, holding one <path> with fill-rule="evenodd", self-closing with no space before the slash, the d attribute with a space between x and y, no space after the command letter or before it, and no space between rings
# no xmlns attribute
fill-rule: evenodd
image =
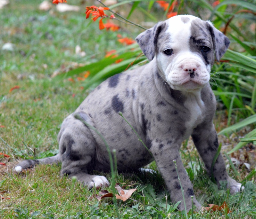
<svg viewBox="0 0 256 219"><path fill-rule="evenodd" d="M179 149L190 135L209 175L216 183L226 181L231 193L241 184L226 172L219 155L213 173L211 164L218 149L212 123L216 99L209 84L211 65L226 52L228 38L208 21L178 15L157 23L136 38L151 61L135 70L116 74L101 83L62 123L58 135L59 154L45 159L24 160L16 171L38 163L62 162L61 173L77 179L88 188L108 186L104 176L90 175L93 170L110 171L109 155L102 138L116 150L119 171L133 171L152 160L165 180L172 202L192 207L193 186L182 164ZM119 115L122 112L136 133ZM78 114L85 125L74 117ZM194 206L201 205L194 197Z"/></svg>

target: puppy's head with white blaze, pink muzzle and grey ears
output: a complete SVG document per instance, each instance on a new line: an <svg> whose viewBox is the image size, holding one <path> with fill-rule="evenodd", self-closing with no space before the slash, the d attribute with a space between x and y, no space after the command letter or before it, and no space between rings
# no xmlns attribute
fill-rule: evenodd
<svg viewBox="0 0 256 219"><path fill-rule="evenodd" d="M227 51L228 38L209 21L178 15L157 23L136 38L145 56L175 90L193 91L210 80L211 65Z"/></svg>

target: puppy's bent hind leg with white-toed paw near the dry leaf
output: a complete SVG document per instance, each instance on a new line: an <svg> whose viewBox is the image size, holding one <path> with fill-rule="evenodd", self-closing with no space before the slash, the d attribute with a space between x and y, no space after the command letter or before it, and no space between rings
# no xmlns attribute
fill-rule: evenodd
<svg viewBox="0 0 256 219"><path fill-rule="evenodd" d="M78 113L87 124L94 126L92 118L84 112ZM104 176L90 175L95 169L96 141L91 130L74 115L69 115L62 123L58 136L63 175L76 176L89 189L108 186Z"/></svg>

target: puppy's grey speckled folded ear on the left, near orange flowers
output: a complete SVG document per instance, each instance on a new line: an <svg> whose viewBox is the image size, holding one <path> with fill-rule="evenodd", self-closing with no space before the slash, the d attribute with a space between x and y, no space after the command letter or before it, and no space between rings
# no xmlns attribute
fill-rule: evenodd
<svg viewBox="0 0 256 219"><path fill-rule="evenodd" d="M136 37L141 50L150 61L155 56L157 38L165 25L165 22L158 22L154 27L142 32Z"/></svg>

